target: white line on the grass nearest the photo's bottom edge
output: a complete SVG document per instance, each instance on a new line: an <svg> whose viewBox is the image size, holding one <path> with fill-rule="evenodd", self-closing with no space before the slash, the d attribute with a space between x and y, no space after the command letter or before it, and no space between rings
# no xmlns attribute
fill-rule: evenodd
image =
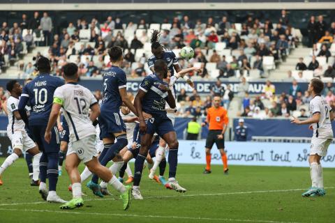
<svg viewBox="0 0 335 223"><path fill-rule="evenodd" d="M277 222L271 220L243 220L243 219L232 219L232 218L210 218L210 217L179 217L179 216L163 216L163 215L136 215L136 214L112 214L112 213L89 213L89 212L75 212L68 210L36 210L36 209L7 209L0 208L0 210L7 211L26 211L26 212L37 212L37 213L62 213L70 215L105 215L105 216L117 216L117 217L143 217L143 218L168 218L168 219L179 219L179 220L200 220L200 221L220 221L220 222L262 222L262 223L298 223L298 222Z"/></svg>

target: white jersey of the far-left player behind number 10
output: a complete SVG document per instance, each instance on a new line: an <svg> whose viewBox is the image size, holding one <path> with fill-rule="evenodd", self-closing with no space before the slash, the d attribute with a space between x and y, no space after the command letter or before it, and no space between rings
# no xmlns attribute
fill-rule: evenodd
<svg viewBox="0 0 335 223"><path fill-rule="evenodd" d="M19 99L10 96L7 100L7 111L8 111L8 125L7 125L7 133L14 134L16 131L26 132L24 129L25 124L24 121L17 120L14 116L14 112L17 111L19 107Z"/></svg>

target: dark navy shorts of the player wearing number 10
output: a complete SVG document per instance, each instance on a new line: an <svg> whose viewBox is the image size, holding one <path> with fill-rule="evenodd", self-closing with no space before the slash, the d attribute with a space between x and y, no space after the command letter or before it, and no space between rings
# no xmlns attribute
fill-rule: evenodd
<svg viewBox="0 0 335 223"><path fill-rule="evenodd" d="M29 130L31 130L31 134L36 140L38 148L40 151L45 153L58 153L59 152L59 132L56 126L54 126L51 130L51 140L50 144L47 143L44 139L44 134L47 126L46 125L30 125Z"/></svg>

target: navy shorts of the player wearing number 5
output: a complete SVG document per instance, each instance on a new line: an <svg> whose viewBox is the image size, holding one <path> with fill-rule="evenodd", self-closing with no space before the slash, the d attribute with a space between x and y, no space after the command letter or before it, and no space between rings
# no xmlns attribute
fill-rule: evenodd
<svg viewBox="0 0 335 223"><path fill-rule="evenodd" d="M126 125L119 112L101 110L98 120L102 138L114 137L117 132L126 132Z"/></svg>

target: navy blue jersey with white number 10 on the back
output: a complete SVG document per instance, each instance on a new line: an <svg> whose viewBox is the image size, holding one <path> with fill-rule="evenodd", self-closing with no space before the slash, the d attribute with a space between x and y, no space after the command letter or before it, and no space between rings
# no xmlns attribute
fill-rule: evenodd
<svg viewBox="0 0 335 223"><path fill-rule="evenodd" d="M47 125L54 100L54 91L63 84L64 81L59 77L40 74L24 86L20 105L30 104L29 125Z"/></svg>

